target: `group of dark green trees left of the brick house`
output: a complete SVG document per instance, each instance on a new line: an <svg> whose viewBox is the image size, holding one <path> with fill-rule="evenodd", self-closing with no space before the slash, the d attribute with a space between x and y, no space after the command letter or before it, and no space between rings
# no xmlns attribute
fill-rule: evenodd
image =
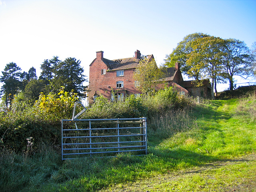
<svg viewBox="0 0 256 192"><path fill-rule="evenodd" d="M21 68L16 63L7 64L0 77L3 83L1 94L4 95L6 107L11 104L14 95L21 91L27 99L38 99L40 92L45 94L57 92L63 86L67 92L85 96L86 86L83 83L87 79L80 63L76 58L66 58L61 61L58 56L54 56L52 59L46 59L41 64L42 72L39 79L34 67L28 72L21 72Z"/></svg>

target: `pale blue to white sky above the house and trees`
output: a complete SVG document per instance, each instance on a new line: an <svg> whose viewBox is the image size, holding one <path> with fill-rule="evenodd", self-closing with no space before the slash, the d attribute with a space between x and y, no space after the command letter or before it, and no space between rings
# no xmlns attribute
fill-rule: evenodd
<svg viewBox="0 0 256 192"><path fill-rule="evenodd" d="M140 50L160 65L194 32L250 47L256 0L0 0L0 71L15 62L39 77L45 59L74 57L88 77L96 51L114 60Z"/></svg>

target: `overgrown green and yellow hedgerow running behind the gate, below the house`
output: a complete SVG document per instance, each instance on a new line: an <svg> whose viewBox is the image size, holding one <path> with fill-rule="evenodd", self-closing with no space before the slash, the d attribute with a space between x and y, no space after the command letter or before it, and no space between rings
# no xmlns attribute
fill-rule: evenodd
<svg viewBox="0 0 256 192"><path fill-rule="evenodd" d="M77 94L60 89L58 94L40 95L32 104L22 93L15 96L12 108L2 112L0 118L1 146L17 152L25 151L28 138L32 138L34 148L47 143L58 145L61 138L61 119L71 119ZM187 102L174 92L172 87L156 92L154 96L127 96L124 101L109 102L100 96L81 116L93 118L139 118L154 116L164 111L183 108Z"/></svg>

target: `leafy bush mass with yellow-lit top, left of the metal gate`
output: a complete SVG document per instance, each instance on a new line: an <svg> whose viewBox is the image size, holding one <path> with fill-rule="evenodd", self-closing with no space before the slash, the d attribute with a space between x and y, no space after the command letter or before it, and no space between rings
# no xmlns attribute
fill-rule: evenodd
<svg viewBox="0 0 256 192"><path fill-rule="evenodd" d="M34 149L42 143L57 145L61 138L60 120L72 117L77 95L62 88L58 94L41 94L34 105L23 98L22 93L15 96L12 108L2 113L1 146L16 152L26 151L30 137Z"/></svg>

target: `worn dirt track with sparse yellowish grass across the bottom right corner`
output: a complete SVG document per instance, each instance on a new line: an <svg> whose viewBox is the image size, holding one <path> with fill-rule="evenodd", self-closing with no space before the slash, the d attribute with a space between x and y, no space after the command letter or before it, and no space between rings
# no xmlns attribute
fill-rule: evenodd
<svg viewBox="0 0 256 192"><path fill-rule="evenodd" d="M243 168L234 168L239 164L251 166L251 171L245 172L243 176L238 173L243 172ZM243 166L242 166L243 167ZM236 169L236 170L234 170ZM228 171L234 174L233 180L222 180L221 175L216 172ZM237 175L237 176L236 176ZM227 175L223 174L223 177ZM236 178L237 177L237 178ZM204 184L195 184L193 178L204 179ZM212 182L214 180L214 182ZM182 188L182 183L183 188ZM188 184L189 183L189 184ZM218 184L219 183L219 184ZM193 188L193 184L195 185ZM188 187L189 185L189 187ZM213 191L213 192L256 192L256 154L249 154L232 160L217 161L204 164L200 167L178 170L168 174L158 175L152 178L140 179L133 183L116 184L100 192L176 192L176 191Z"/></svg>

